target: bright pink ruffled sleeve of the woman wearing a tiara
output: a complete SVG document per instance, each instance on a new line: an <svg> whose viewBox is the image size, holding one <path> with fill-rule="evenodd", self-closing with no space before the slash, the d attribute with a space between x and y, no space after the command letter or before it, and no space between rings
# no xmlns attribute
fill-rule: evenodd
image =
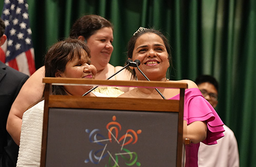
<svg viewBox="0 0 256 167"><path fill-rule="evenodd" d="M177 99L175 96L171 99ZM184 100L184 116L183 120L187 124L195 121L206 121L207 123L207 137L202 142L206 145L217 144L219 138L223 137L223 122L215 111L215 109L204 99L198 88L190 88L185 90Z"/></svg>

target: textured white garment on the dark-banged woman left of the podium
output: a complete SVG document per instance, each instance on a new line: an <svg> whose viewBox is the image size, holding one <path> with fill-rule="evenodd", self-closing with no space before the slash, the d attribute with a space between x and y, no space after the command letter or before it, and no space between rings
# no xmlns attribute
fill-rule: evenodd
<svg viewBox="0 0 256 167"><path fill-rule="evenodd" d="M92 93L96 97L108 97L99 92ZM40 166L44 106L43 100L23 114L17 166Z"/></svg>

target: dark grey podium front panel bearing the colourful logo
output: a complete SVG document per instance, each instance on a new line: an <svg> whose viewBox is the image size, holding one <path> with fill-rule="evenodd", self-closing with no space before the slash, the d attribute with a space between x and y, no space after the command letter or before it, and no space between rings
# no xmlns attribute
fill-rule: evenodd
<svg viewBox="0 0 256 167"><path fill-rule="evenodd" d="M49 108L46 166L176 166L178 116Z"/></svg>

